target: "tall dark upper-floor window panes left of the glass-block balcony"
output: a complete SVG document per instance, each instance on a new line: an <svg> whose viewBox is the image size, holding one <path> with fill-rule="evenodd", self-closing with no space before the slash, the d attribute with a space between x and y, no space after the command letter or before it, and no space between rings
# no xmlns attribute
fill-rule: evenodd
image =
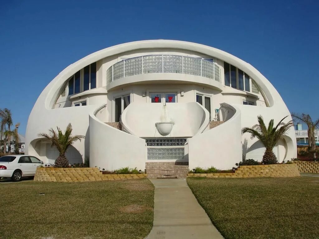
<svg viewBox="0 0 319 239"><path fill-rule="evenodd" d="M69 80L69 95L96 88L96 62L79 70Z"/></svg>

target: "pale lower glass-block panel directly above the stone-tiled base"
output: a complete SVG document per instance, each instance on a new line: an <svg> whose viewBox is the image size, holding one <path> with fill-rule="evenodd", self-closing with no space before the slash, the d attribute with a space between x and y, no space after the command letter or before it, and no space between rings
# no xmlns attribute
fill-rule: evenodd
<svg viewBox="0 0 319 239"><path fill-rule="evenodd" d="M184 148L147 148L148 160L183 160Z"/></svg>

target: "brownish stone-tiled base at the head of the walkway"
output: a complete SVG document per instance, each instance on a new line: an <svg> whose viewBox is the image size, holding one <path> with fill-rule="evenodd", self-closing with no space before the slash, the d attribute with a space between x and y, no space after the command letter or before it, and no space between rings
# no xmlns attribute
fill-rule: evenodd
<svg viewBox="0 0 319 239"><path fill-rule="evenodd" d="M188 162L147 162L145 170L148 178L186 178Z"/></svg>

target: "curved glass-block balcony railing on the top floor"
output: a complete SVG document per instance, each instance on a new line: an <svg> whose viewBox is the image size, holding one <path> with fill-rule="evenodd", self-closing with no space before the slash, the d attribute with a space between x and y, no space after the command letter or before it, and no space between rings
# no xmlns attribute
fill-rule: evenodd
<svg viewBox="0 0 319 239"><path fill-rule="evenodd" d="M180 55L145 55L115 63L107 70L107 82L149 73L179 73L203 76L221 82L220 68L202 58Z"/></svg>

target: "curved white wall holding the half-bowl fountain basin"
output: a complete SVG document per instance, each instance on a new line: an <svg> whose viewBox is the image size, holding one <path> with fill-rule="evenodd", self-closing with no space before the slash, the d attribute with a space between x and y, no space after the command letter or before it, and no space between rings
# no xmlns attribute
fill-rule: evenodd
<svg viewBox="0 0 319 239"><path fill-rule="evenodd" d="M173 122L170 134L159 134L155 124ZM196 102L131 103L122 113L123 127L138 137L192 137L209 124L209 112Z"/></svg>

